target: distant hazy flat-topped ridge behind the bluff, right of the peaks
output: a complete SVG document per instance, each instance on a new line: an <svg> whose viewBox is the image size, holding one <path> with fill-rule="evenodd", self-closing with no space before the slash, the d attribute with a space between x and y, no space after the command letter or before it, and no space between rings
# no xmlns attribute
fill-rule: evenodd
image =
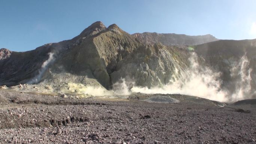
<svg viewBox="0 0 256 144"><path fill-rule="evenodd" d="M207 34L203 36L187 36L185 34L159 34L159 33L135 33L132 34L140 42L144 44L155 44L161 42L163 45L199 45L202 43L213 42L216 39L214 36Z"/></svg>

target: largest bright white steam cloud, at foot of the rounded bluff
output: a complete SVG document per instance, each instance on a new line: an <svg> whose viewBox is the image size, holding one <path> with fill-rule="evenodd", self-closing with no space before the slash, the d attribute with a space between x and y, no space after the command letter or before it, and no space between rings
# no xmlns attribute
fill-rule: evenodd
<svg viewBox="0 0 256 144"><path fill-rule="evenodd" d="M208 67L201 67L197 61L198 57L192 53L189 61L191 67L183 72L182 77L163 87L134 87L132 92L141 92L146 94L185 94L194 95L216 101L226 101L227 92L220 88L221 81L218 79L220 73L214 73Z"/></svg>

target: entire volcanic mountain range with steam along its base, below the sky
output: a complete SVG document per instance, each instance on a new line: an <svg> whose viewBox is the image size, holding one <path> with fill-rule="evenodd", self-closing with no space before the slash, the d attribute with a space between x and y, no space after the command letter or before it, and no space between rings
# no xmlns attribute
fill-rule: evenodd
<svg viewBox="0 0 256 144"><path fill-rule="evenodd" d="M142 35L95 22L71 40L27 52L0 49L0 85L46 84L59 89L64 84L72 92L82 86L132 88L211 99L255 96L256 40L146 33L150 39L144 41ZM175 39L167 42L168 37ZM195 45L199 43L203 44Z"/></svg>

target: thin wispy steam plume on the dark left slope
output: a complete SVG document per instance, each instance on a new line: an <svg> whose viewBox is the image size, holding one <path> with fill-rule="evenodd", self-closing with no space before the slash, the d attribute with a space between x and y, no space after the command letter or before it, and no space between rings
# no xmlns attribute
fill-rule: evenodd
<svg viewBox="0 0 256 144"><path fill-rule="evenodd" d="M36 84L40 82L43 74L45 73L49 65L55 61L54 53L49 52L48 55L49 55L49 58L43 62L41 69L39 70L39 74L35 76L33 79L31 79L29 82L27 82L27 84Z"/></svg>

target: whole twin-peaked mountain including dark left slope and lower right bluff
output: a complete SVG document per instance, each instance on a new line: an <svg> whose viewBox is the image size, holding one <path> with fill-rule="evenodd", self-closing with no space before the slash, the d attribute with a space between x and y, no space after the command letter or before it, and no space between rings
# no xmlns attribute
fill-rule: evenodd
<svg viewBox="0 0 256 144"><path fill-rule="evenodd" d="M71 40L12 52L0 61L0 85L73 82L110 88L129 78L136 85L151 87L177 75L188 65L186 57L185 47L145 46L115 24L106 28L95 22ZM174 68L178 68L175 73Z"/></svg>

